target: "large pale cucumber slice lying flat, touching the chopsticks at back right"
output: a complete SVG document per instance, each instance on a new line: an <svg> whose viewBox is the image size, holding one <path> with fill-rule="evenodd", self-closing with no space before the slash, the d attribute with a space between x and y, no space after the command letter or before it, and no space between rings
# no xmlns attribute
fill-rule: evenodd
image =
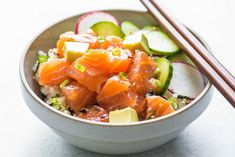
<svg viewBox="0 0 235 157"><path fill-rule="evenodd" d="M175 42L162 31L152 31L147 33L148 46L155 55L173 55L179 51Z"/></svg>

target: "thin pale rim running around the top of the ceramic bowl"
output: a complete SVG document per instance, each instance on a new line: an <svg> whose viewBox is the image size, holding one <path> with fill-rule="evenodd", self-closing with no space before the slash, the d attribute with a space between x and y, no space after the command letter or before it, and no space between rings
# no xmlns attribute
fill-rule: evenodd
<svg viewBox="0 0 235 157"><path fill-rule="evenodd" d="M130 126L139 126L139 125L147 125L150 123L155 123L155 122L160 122L160 121L165 121L169 118L174 118L175 116L177 116L178 114L181 114L187 110L189 110L190 108L192 108L194 105L197 104L197 102L199 100L201 100L205 94L211 89L212 84L210 81L207 82L206 86L204 87L203 91L192 101L190 102L188 105L184 106L183 108L167 114L165 116L162 117L158 117L155 119L150 119L150 120L143 120L143 121L138 121L138 122L132 122L132 123L124 123L124 124L112 124L112 123L107 123L107 122L97 122L97 121L91 121L91 120L86 120L86 119L81 119L79 117L74 117L72 115L68 115L66 113L63 113L61 111L58 111L56 109L54 109L53 107L49 106L46 102L44 102L42 99L40 99L35 93L34 91L31 89L31 87L29 86L27 80L26 80L26 76L25 76L25 70L24 70L24 63L25 63L25 57L28 54L28 50L31 47L31 45L34 43L34 41L43 33L45 33L46 31L48 31L51 27L62 23L66 20L69 20L71 18L74 18L76 16L80 16L82 14L88 13L88 12L93 12L93 11L100 11L100 10L91 10L91 11L85 11L85 12L81 12L79 14L75 14L66 18L63 18L62 20L58 20L56 22L54 22L53 24L49 25L49 26L45 26L46 28L43 28L42 31L39 31L39 33L36 33L36 35L34 35L34 37L32 38L32 40L29 42L29 44L25 47L24 52L22 53L22 56L20 58L20 65L19 65L19 74L20 74L20 79L21 79L21 83L23 84L24 88L27 90L27 92L30 94L30 96L32 96L32 98L37 101L40 105L42 105L43 107L45 107L46 109L48 109L50 112L52 113L56 113L57 115L61 116L62 118L68 118L70 120L76 121L76 122L82 122L85 124L91 124L91 125L99 125L99 126L107 126L107 127L130 127ZM130 9L103 9L101 11L124 11L124 12L135 12L135 13L148 13L146 11L142 11L142 10L130 10ZM187 27L187 26L186 26ZM189 28L189 27L187 27ZM205 47L211 51L210 47L207 45L207 43L201 38L200 35L198 35L197 33L195 33L191 28L189 28L189 30L196 35L199 40L205 45Z"/></svg>

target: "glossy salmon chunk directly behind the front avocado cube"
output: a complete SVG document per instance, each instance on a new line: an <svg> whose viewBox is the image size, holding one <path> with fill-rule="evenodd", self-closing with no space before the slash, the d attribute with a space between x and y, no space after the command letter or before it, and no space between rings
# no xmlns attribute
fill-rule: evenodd
<svg viewBox="0 0 235 157"><path fill-rule="evenodd" d="M145 115L145 99L130 91L128 80L122 80L118 76L113 76L107 80L101 92L97 95L98 104L107 111L134 108L139 116Z"/></svg>

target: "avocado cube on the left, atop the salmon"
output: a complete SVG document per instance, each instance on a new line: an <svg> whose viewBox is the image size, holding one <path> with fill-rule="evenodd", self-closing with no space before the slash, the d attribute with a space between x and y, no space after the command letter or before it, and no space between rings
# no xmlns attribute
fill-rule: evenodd
<svg viewBox="0 0 235 157"><path fill-rule="evenodd" d="M63 53L67 61L74 62L81 57L89 48L88 43L82 42L65 42Z"/></svg>

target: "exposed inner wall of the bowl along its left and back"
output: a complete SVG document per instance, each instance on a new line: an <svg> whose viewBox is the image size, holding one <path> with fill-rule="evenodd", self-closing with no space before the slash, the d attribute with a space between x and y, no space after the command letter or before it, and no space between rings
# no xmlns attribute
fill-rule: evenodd
<svg viewBox="0 0 235 157"><path fill-rule="evenodd" d="M107 12L110 12L112 15L114 15L119 22L130 20L139 27L143 27L145 25L150 25L150 24L157 24L157 22L152 18L152 16L146 12L125 11L125 10L113 10L113 11L109 10ZM56 47L56 42L61 33L64 33L66 31L74 31L75 23L79 16L80 15L67 18L59 23L52 25L51 27L40 33L29 45L23 56L22 60L23 75L31 90L40 99L43 99L43 96L40 92L40 86L33 78L34 74L32 71L32 67L35 64L37 58L37 51L43 50L47 52L49 49ZM207 81L207 86L208 84L209 82Z"/></svg>

